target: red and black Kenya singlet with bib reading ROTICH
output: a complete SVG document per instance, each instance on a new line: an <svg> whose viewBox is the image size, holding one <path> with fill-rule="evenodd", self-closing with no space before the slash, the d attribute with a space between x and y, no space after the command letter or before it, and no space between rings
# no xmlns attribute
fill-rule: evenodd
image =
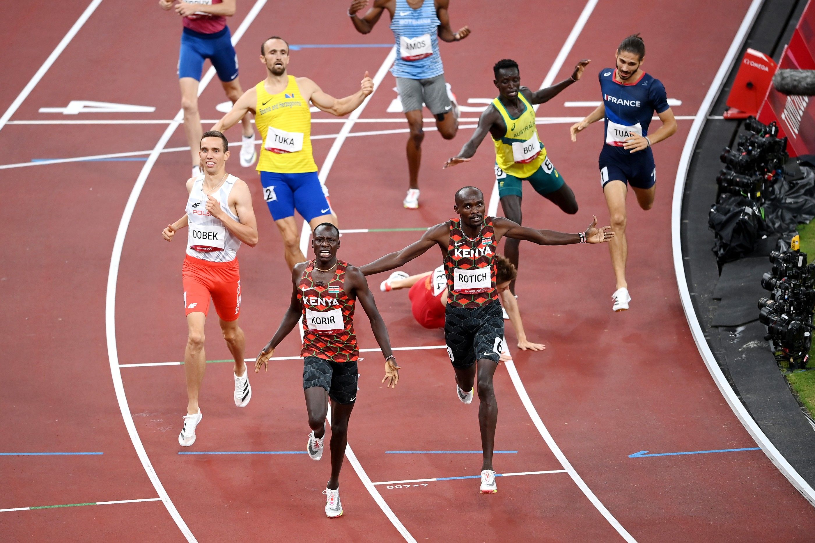
<svg viewBox="0 0 815 543"><path fill-rule="evenodd" d="M498 299L495 240L491 217L484 218L481 232L474 239L465 236L460 219L450 220L450 241L444 257L448 305L473 309Z"/></svg>

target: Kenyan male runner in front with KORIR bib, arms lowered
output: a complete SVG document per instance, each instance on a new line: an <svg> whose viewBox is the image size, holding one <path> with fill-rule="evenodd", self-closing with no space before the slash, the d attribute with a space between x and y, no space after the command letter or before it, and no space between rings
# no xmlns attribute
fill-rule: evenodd
<svg viewBox="0 0 815 543"><path fill-rule="evenodd" d="M354 333L354 307L362 304L371 321L373 336L385 355L385 377L388 387L399 382L399 366L390 350L385 321L377 310L368 282L359 269L337 259L340 231L332 223L319 224L312 233L311 247L315 259L297 264L292 272L292 299L289 311L271 341L258 355L268 371L272 353L302 318L303 391L306 394L308 423L311 426L306 452L312 460L323 456L325 418L331 401L331 479L323 492L325 514L336 518L342 514L340 502L340 469L348 443L348 420L357 395L357 348Z"/></svg>

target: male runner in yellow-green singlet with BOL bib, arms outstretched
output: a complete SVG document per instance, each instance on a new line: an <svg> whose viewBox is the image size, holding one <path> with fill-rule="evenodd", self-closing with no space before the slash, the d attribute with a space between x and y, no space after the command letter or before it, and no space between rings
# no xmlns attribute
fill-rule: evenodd
<svg viewBox="0 0 815 543"><path fill-rule="evenodd" d="M538 129L535 128L535 109L533 104L543 104L579 80L589 60L580 60L571 77L557 85L532 92L521 86L521 73L514 60L499 60L492 67L496 79L493 83L499 95L487 106L473 137L465 143L456 157L452 157L444 167L456 166L469 161L475 154L487 133L492 135L496 147L496 183L501 207L506 218L521 224L521 198L523 181L529 181L535 192L552 201L568 214L577 213L575 193L563 181L562 175L555 170L540 143ZM504 254L509 261L518 267L518 245L520 241L508 238L504 245ZM509 284L509 290L515 294L515 281ZM507 318L507 317L504 317Z"/></svg>

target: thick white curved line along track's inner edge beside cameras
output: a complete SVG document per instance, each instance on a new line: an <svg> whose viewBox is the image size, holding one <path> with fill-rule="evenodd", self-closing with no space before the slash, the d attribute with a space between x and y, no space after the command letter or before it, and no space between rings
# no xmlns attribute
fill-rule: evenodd
<svg viewBox="0 0 815 543"><path fill-rule="evenodd" d="M735 394L733 388L727 381L727 377L725 377L725 374L722 373L719 364L716 362L716 357L713 355L710 346L707 345L707 339L705 338L702 326L699 324L693 301L690 298L688 283L687 279L685 278L685 263L682 258L682 195L685 193L685 179L688 175L691 157L693 157L694 148L696 148L696 143L699 135L702 132L706 119L711 118L707 117L707 113L710 113L710 110L713 107L713 101L716 99L716 95L719 93L721 86L724 84L730 68L732 68L734 65L738 52L741 51L742 44L747 37L747 32L749 32L754 20L756 20L756 16L758 15L762 3L763 0L753 0L753 2L750 4L750 8L744 15L742 24L738 28L738 32L733 38L733 42L730 43L730 48L725 55L725 59L722 60L719 66L719 71L716 72L716 77L714 77L713 82L711 82L711 85L707 89L707 95L705 95L705 99L699 106L694 124L690 127L688 137L685 139L685 147L682 148L679 167L676 169L676 184L674 184L673 187L673 202L671 210L673 267L674 271L676 272L676 284L679 287L679 296L682 302L682 309L685 310L685 318L688 320L690 333L693 335L694 342L696 342L696 347L699 350L699 354L702 355L702 360L707 366L707 371L711 373L713 381L716 382L716 386L719 387L721 394L725 396L725 400L727 400L730 408L733 409L733 412L736 414L738 420L747 429L747 432L752 436L752 438L756 440L756 443L759 445L761 450L764 451L764 454L769 457L770 461L775 464L778 470L782 472L782 474L790 481L790 483L792 483L798 492L800 492L810 504L815 505L815 490L813 490L812 486L810 486L809 483L807 483L804 478L800 476L795 468L792 467L788 461L786 461L786 458L778 451L778 448L775 448L773 442L770 441L766 435L764 435L764 431L762 431L760 426L756 424L756 421L753 420L753 417L747 411L747 408L745 408L744 404L742 404L742 401L738 399L738 396Z"/></svg>

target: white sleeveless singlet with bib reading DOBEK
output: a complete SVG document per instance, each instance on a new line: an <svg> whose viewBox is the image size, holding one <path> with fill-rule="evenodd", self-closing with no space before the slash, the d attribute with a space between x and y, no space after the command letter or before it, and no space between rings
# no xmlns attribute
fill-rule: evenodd
<svg viewBox="0 0 815 543"><path fill-rule="evenodd" d="M229 209L229 193L238 180L227 174L227 179L217 191L209 196L221 202L221 209L232 219L238 216ZM204 174L192 183L192 191L187 199L187 254L209 262L230 262L235 260L240 240L206 210L207 196L204 193Z"/></svg>

